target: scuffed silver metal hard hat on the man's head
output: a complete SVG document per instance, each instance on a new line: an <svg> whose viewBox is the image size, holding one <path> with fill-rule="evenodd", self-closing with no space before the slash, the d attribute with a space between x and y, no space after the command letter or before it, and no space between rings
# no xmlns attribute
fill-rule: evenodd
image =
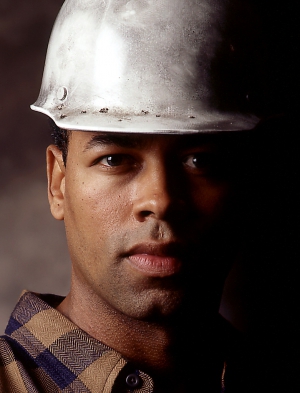
<svg viewBox="0 0 300 393"><path fill-rule="evenodd" d="M254 128L259 118L248 113L246 83L228 81L228 75L245 78L236 71L238 56L227 32L229 3L66 0L31 108L71 130Z"/></svg>

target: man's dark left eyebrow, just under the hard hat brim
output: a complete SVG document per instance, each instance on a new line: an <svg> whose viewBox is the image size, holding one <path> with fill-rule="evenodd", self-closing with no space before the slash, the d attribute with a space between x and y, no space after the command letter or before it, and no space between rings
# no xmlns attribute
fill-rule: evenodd
<svg viewBox="0 0 300 393"><path fill-rule="evenodd" d="M86 144L84 151L88 151L97 146L117 146L126 148L141 148L149 143L149 138L140 135L123 135L123 134L103 134L99 133Z"/></svg>

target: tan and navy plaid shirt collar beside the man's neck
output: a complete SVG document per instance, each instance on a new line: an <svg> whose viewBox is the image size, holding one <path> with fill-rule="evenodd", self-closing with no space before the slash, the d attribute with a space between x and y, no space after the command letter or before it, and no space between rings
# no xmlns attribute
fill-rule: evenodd
<svg viewBox="0 0 300 393"><path fill-rule="evenodd" d="M118 386L124 383L124 391L151 393L151 377L133 369L121 354L88 335L54 308L62 300L56 295L25 291L11 315L6 335L61 389L79 381L91 392L112 392L116 383Z"/></svg>

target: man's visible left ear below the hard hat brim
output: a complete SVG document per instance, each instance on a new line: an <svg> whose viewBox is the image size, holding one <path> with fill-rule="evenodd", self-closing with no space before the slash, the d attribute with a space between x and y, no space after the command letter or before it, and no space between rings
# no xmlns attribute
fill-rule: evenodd
<svg viewBox="0 0 300 393"><path fill-rule="evenodd" d="M65 164L62 152L54 145L47 148L48 200L50 210L57 220L64 219Z"/></svg>

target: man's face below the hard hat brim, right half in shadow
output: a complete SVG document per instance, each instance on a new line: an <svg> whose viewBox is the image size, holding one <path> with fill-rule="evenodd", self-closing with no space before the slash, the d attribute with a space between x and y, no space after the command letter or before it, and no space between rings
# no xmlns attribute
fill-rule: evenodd
<svg viewBox="0 0 300 393"><path fill-rule="evenodd" d="M212 307L232 232L222 157L199 136L73 131L52 209L65 220L73 284L137 319Z"/></svg>

